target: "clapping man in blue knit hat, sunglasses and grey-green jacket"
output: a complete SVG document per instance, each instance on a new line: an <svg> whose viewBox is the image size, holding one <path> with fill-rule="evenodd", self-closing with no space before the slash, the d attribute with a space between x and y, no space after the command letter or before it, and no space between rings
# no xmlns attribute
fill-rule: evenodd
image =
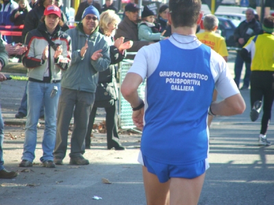
<svg viewBox="0 0 274 205"><path fill-rule="evenodd" d="M66 156L69 124L74 117L71 135L71 165L88 165L84 159L83 145L88 127L88 118L95 100L98 72L110 65L110 48L108 42L99 33L99 12L90 5L74 29L66 33L71 36L73 53L71 66L65 70L61 81L61 96L58 104L58 122L56 143L53 152L54 163L62 165Z"/></svg>

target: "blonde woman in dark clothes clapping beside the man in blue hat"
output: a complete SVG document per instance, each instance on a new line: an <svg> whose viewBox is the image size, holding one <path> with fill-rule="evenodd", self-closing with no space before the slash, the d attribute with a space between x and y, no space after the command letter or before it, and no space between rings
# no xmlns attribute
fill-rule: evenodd
<svg viewBox="0 0 274 205"><path fill-rule="evenodd" d="M105 122L107 127L108 150L125 150L119 141L117 131L116 100L118 100L118 91L116 85L116 68L114 64L119 63L125 57L125 50L132 47L132 41L123 42L124 38L118 38L114 41L114 34L120 18L113 10L107 10L100 15L99 28L110 45L110 67L99 73L99 81L95 94L95 103L90 113L88 122L88 131L86 133L86 149L90 148L90 134L95 120L97 107L105 108Z"/></svg>

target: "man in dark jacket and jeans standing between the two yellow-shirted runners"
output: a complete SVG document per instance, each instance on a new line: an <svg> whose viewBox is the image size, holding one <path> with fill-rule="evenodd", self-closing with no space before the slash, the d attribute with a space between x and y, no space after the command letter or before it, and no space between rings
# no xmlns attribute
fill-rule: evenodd
<svg viewBox="0 0 274 205"><path fill-rule="evenodd" d="M250 37L256 36L261 31L260 23L256 20L254 10L249 8L245 12L247 17L246 20L242 21L240 25L234 31L234 40L236 41L236 45L238 48L242 48L245 46ZM234 81L236 85L239 87L240 85L240 74L242 72L242 66L244 64L244 60L240 57L239 51L237 52L235 66L234 66ZM245 63L245 78L244 83L240 90L247 90L249 87L249 77L251 74L250 64Z"/></svg>

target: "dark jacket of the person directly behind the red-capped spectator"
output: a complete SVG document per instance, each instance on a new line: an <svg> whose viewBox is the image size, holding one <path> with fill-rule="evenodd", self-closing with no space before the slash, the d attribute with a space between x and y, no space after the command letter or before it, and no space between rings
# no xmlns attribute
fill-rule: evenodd
<svg viewBox="0 0 274 205"><path fill-rule="evenodd" d="M39 5L38 7L31 10L26 18L24 23L24 28L22 31L22 42L25 43L25 36L27 35L27 32L32 31L33 29L37 29L38 25L42 22L40 19L44 15L45 7L44 5ZM66 20L66 16L64 15L64 12L61 11L62 15L62 21L64 22L64 26L62 27L62 31L66 31L69 29L68 21Z"/></svg>

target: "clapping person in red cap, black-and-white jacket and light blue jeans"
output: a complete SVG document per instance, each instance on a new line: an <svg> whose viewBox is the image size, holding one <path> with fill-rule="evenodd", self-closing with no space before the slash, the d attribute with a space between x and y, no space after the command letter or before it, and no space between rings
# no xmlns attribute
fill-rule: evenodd
<svg viewBox="0 0 274 205"><path fill-rule="evenodd" d="M40 108L45 110L45 132L42 140L44 167L55 167L53 148L56 137L56 114L60 96L61 70L71 61L71 38L61 31L61 10L55 5L45 8L42 24L26 36L27 52L23 65L27 69L27 122L20 167L32 167L35 158L37 124Z"/></svg>

